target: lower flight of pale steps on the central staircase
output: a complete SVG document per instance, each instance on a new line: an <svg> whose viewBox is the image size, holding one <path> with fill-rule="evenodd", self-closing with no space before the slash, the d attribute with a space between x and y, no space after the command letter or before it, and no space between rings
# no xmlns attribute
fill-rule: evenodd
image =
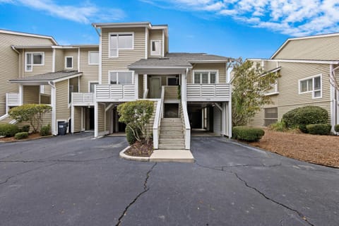
<svg viewBox="0 0 339 226"><path fill-rule="evenodd" d="M181 118L161 119L159 149L185 149L184 130Z"/></svg>

